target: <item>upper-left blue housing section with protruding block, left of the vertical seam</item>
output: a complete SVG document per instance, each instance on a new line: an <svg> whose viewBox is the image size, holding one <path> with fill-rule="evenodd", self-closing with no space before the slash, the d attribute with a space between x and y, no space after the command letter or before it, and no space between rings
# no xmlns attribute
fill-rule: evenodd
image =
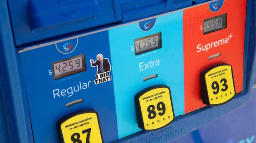
<svg viewBox="0 0 256 143"><path fill-rule="evenodd" d="M121 21L119 6L114 6L116 2L113 0L80 2L8 0L15 44L22 45Z"/></svg>

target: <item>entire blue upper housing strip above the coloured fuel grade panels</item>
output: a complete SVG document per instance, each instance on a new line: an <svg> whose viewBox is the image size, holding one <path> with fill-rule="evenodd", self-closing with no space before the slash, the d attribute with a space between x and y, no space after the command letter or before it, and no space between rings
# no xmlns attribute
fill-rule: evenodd
<svg viewBox="0 0 256 143"><path fill-rule="evenodd" d="M211 0L7 0L17 49ZM36 42L36 43L31 43ZM21 47L20 47L21 46Z"/></svg>

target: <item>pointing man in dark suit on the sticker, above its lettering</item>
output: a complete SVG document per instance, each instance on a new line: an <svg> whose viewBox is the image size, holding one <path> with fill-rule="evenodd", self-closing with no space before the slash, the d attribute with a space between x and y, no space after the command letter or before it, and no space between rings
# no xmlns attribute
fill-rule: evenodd
<svg viewBox="0 0 256 143"><path fill-rule="evenodd" d="M97 60L95 62L94 60L90 60L90 64L92 67L98 66L97 74L111 70L108 58L103 58L102 54L97 55Z"/></svg>

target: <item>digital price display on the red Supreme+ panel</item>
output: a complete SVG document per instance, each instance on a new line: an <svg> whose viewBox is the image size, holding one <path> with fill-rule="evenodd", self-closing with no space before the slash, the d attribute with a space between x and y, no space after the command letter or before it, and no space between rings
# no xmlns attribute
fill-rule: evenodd
<svg viewBox="0 0 256 143"><path fill-rule="evenodd" d="M227 13L204 19L204 34L227 28Z"/></svg>

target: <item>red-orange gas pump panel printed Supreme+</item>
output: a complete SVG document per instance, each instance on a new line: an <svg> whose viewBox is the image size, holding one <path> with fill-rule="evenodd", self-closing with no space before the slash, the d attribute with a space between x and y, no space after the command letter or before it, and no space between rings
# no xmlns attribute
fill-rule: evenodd
<svg viewBox="0 0 256 143"><path fill-rule="evenodd" d="M234 8L240 10L234 11ZM216 3L208 4L208 6L198 6L184 11L185 113L206 105L201 100L201 93L198 87L204 88L200 86L200 74L211 66L229 64L233 69L233 75L231 76L234 78L235 91L237 93L242 91L245 32L244 15L246 15L246 1L233 3L228 0L219 0ZM239 21L237 20L238 18ZM213 78L218 79L220 74L222 72L215 71ZM227 75L230 75L230 73L222 75L223 79L227 78ZM221 90L226 82L220 80L217 82L219 82L219 88ZM209 84L212 84L214 81L212 80ZM233 81L227 81L227 83L229 82L232 83ZM215 84L211 86L210 88L212 89L217 88ZM211 98L213 102L221 103L224 95L217 93L217 89L214 93L214 96ZM232 96L233 93L227 99L230 99Z"/></svg>

